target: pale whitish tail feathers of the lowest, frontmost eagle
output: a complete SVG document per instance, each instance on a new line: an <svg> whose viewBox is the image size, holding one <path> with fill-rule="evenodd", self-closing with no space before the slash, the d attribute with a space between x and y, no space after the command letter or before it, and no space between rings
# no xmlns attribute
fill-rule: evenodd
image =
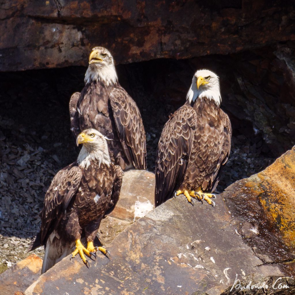
<svg viewBox="0 0 295 295"><path fill-rule="evenodd" d="M53 231L46 241L41 273L45 273L49 268L71 254L74 244L60 240L59 236Z"/></svg>

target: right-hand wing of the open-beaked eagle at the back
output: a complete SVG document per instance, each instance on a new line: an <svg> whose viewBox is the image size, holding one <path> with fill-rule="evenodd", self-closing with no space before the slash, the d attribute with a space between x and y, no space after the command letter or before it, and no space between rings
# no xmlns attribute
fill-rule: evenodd
<svg viewBox="0 0 295 295"><path fill-rule="evenodd" d="M146 169L145 130L135 101L122 88L110 94L117 133L124 153L136 169Z"/></svg>

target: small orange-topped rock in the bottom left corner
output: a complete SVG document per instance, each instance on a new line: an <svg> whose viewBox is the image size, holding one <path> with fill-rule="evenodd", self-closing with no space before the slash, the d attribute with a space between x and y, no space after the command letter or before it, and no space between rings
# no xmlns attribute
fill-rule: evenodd
<svg viewBox="0 0 295 295"><path fill-rule="evenodd" d="M0 275L0 295L23 294L40 276L42 259L31 254Z"/></svg>

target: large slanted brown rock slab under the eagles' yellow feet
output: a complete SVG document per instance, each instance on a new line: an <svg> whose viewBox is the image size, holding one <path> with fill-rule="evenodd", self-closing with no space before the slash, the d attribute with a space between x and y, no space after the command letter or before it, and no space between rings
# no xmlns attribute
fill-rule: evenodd
<svg viewBox="0 0 295 295"><path fill-rule="evenodd" d="M25 294L219 294L250 273L282 275L262 261L236 233L239 224L217 196L215 208L183 196L168 200L119 234L111 258L98 255L86 268L63 259ZM219 292L219 293L218 293Z"/></svg>

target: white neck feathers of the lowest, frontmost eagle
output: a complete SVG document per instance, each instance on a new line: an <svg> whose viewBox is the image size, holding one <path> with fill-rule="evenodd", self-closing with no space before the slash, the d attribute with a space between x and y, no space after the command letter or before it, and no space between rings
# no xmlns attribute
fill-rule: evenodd
<svg viewBox="0 0 295 295"><path fill-rule="evenodd" d="M98 162L99 167L101 164L107 165L108 167L110 166L111 159L107 145L104 148L95 148L91 151L83 145L77 158L79 167L87 169L93 162Z"/></svg>

